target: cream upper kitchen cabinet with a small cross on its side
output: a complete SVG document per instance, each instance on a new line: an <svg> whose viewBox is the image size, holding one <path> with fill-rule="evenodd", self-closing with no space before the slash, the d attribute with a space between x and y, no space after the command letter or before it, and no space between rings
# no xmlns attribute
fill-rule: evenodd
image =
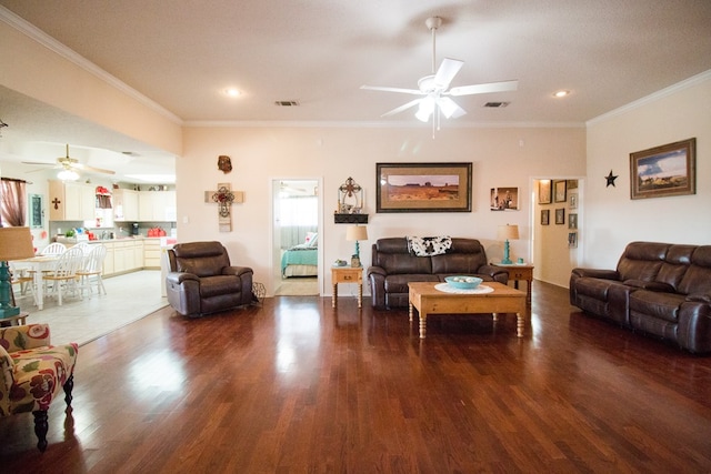
<svg viewBox="0 0 711 474"><path fill-rule="evenodd" d="M50 221L92 221L96 203L93 185L57 180L49 182Z"/></svg>

